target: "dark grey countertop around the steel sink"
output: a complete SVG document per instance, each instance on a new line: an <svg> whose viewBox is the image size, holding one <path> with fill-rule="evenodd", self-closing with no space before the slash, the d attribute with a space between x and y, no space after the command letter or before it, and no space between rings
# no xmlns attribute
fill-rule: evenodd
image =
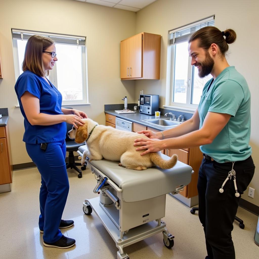
<svg viewBox="0 0 259 259"><path fill-rule="evenodd" d="M142 121L147 119L155 119L155 115L147 115L144 113L140 113L139 110L135 111L136 113L126 113L126 114L119 114L114 111L104 111L104 112L125 120L129 120L129 121L147 126L149 128L153 128L154 130L158 130L158 131L164 131L164 130L174 128L174 127L161 127L159 125L148 123L147 121ZM160 115L160 119L168 119L168 117Z"/></svg>

